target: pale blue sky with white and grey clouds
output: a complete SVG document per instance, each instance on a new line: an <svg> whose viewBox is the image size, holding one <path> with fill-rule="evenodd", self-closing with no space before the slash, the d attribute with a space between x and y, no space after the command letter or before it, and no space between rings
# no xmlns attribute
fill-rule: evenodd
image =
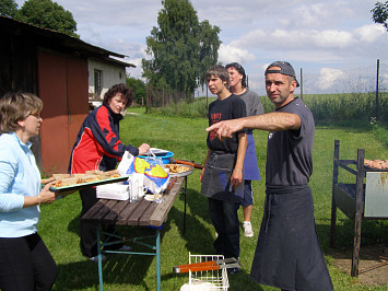
<svg viewBox="0 0 388 291"><path fill-rule="evenodd" d="M264 68L274 60L287 60L297 74L302 68L304 91L309 93L317 89L332 90L339 82L346 82L344 75L349 70L374 68L377 59L388 65L388 32L372 20L371 10L377 1L191 0L191 3L200 21L209 20L221 28L219 61L240 62L251 90L263 93ZM24 3L15 2L19 8ZM145 37L157 26L161 0L56 2L73 14L82 40L129 56L127 60L138 66L129 70L130 74L141 77L141 58L149 57L144 51ZM387 75L381 80L388 84L388 70L383 72Z"/></svg>

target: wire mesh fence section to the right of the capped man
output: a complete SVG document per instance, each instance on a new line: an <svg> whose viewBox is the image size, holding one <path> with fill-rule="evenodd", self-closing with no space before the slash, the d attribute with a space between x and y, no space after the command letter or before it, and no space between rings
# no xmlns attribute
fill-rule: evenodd
<svg viewBox="0 0 388 291"><path fill-rule="evenodd" d="M302 70L301 70L302 71ZM321 69L301 75L301 97L316 120L388 121L388 65Z"/></svg>

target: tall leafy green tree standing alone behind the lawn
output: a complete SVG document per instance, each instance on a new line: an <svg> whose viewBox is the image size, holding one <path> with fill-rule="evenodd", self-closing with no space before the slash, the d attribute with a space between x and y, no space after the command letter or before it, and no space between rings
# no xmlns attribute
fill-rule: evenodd
<svg viewBox="0 0 388 291"><path fill-rule="evenodd" d="M199 22L189 0L162 0L158 27L146 37L143 77L154 86L177 89L191 95L204 82L205 69L217 62L220 28Z"/></svg>

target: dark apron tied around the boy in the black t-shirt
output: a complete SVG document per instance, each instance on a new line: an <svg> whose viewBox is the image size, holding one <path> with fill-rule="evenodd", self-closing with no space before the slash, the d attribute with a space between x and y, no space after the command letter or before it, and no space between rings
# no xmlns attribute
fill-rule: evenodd
<svg viewBox="0 0 388 291"><path fill-rule="evenodd" d="M231 176L235 163L235 153L211 152L208 163L204 165L201 194L217 200L240 202L244 194L244 183L239 184L236 189L233 189L231 185Z"/></svg>

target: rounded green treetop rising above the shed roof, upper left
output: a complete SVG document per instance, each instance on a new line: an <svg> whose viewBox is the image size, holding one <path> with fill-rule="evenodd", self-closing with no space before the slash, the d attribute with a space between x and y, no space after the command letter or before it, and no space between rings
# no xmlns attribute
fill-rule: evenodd
<svg viewBox="0 0 388 291"><path fill-rule="evenodd" d="M16 20L64 33L80 38L77 31L77 22L71 12L51 0L28 0L15 15Z"/></svg>

